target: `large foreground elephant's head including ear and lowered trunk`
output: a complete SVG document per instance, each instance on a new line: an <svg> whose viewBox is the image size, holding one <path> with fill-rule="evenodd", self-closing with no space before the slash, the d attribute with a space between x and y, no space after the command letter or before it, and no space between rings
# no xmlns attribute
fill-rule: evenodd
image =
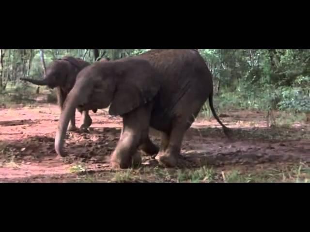
<svg viewBox="0 0 310 232"><path fill-rule="evenodd" d="M68 94L55 137L55 150L65 156L62 146L75 108L81 110L109 107L109 114L123 116L153 100L160 87L161 76L146 60L124 58L97 61L78 73Z"/></svg>

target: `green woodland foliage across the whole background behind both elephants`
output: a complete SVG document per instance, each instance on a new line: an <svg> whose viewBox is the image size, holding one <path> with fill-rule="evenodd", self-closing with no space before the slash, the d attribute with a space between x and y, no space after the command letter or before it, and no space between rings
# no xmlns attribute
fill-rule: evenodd
<svg viewBox="0 0 310 232"><path fill-rule="evenodd" d="M111 60L140 55L150 49L99 49ZM19 78L42 79L39 49L2 49L2 87L19 87ZM214 76L217 111L221 108L310 111L310 49L199 49ZM46 66L62 56L94 62L92 49L45 49ZM207 105L202 110L211 117Z"/></svg>

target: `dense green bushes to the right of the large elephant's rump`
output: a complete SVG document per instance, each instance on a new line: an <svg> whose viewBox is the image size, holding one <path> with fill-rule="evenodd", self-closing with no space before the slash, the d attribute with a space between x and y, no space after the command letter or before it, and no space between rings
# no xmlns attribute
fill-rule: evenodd
<svg viewBox="0 0 310 232"><path fill-rule="evenodd" d="M219 108L309 112L309 49L199 51L221 84Z"/></svg>

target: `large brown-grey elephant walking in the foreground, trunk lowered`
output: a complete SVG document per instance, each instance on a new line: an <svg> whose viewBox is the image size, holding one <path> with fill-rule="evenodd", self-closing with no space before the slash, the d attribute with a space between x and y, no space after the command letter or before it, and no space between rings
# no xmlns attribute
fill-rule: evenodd
<svg viewBox="0 0 310 232"><path fill-rule="evenodd" d="M123 130L111 156L116 168L129 168L139 146L154 148L149 127L161 131L156 159L166 167L178 164L185 132L209 98L210 108L226 135L230 130L213 106L213 80L196 50L151 50L117 61L96 62L83 69L69 93L55 137L62 151L66 128L74 108L106 108L123 117Z"/></svg>

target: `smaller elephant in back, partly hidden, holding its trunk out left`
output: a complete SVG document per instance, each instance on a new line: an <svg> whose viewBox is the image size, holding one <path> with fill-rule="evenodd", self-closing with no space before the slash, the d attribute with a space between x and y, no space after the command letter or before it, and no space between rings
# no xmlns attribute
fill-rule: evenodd
<svg viewBox="0 0 310 232"><path fill-rule="evenodd" d="M57 87L58 104L62 110L63 102L68 93L75 84L78 73L85 67L90 65L89 62L79 58L64 56L61 59L54 60L46 70L46 76L43 80L33 80L28 78L21 78L23 81L28 81L39 86L47 86L49 88ZM96 112L96 109L92 109ZM78 111L82 114L82 129L87 129L92 125L92 118L88 111ZM76 130L75 113L70 118L69 131Z"/></svg>

